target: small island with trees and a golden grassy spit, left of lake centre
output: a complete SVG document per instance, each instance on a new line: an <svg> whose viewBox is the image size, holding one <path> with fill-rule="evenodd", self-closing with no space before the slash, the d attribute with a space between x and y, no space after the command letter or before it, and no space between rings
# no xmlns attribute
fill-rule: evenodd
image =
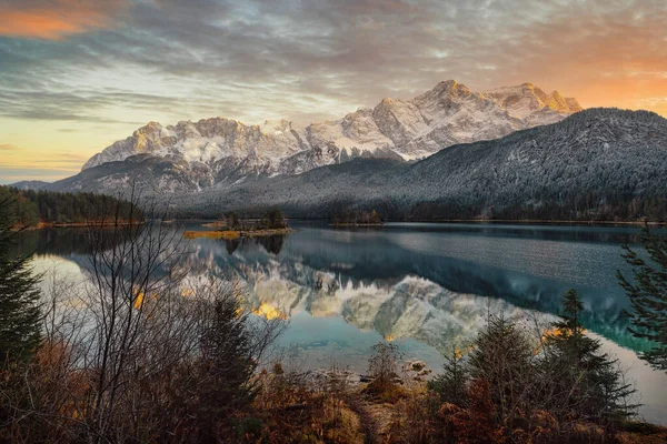
<svg viewBox="0 0 667 444"><path fill-rule="evenodd" d="M237 239L269 235L285 235L292 232L285 221L282 211L271 210L261 219L240 219L236 213L221 214L213 222L203 223L201 226L212 228L210 231L186 231L186 239Z"/></svg>

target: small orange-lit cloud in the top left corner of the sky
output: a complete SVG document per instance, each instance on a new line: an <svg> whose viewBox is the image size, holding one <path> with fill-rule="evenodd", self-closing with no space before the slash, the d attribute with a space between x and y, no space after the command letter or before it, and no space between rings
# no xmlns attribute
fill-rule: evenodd
<svg viewBox="0 0 667 444"><path fill-rule="evenodd" d="M84 4L60 0L32 7L26 3L0 7L0 36L61 40L70 34L108 27L111 17L123 7L123 1Z"/></svg>

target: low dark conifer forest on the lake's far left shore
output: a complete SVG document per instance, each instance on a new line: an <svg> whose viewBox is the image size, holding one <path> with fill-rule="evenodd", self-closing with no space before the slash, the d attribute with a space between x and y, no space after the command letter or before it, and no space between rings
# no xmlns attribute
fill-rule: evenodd
<svg viewBox="0 0 667 444"><path fill-rule="evenodd" d="M57 193L0 186L0 204L9 208L12 223L20 226L77 224L109 219L120 205L120 216L129 214L130 203L94 193Z"/></svg>

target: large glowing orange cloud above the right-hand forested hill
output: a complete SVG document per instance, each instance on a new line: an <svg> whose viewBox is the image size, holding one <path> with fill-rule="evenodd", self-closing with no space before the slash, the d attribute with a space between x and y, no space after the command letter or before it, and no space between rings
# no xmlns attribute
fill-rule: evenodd
<svg viewBox="0 0 667 444"><path fill-rule="evenodd" d="M585 108L645 109L667 117L665 10L635 18L635 11L569 17L540 24L526 43L529 58L519 79L576 97Z"/></svg>

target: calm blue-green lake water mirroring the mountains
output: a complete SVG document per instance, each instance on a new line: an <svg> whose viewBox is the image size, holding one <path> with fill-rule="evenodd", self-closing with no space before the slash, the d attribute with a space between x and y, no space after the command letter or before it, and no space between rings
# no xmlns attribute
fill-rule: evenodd
<svg viewBox="0 0 667 444"><path fill-rule="evenodd" d="M636 244L637 228L292 226L285 238L190 241L187 262L188 279L237 280L257 313L289 319L280 345L293 365L336 362L364 372L370 346L387 339L438 372L440 352L469 343L489 311L548 321L561 294L575 287L586 327L636 382L644 417L667 424L667 375L637 359L646 344L627 332L623 310L629 304L615 278L629 271L620 244ZM24 233L20 249L36 253L39 270L84 275L83 245L80 230L61 229Z"/></svg>

